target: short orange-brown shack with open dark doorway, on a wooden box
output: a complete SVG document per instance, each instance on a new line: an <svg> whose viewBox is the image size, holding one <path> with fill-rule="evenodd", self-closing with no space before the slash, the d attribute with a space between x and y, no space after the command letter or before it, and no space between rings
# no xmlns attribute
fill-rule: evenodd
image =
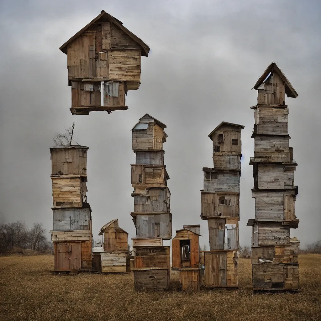
<svg viewBox="0 0 321 321"><path fill-rule="evenodd" d="M172 239L172 270L179 271L183 291L200 289L200 225L183 225Z"/></svg>

